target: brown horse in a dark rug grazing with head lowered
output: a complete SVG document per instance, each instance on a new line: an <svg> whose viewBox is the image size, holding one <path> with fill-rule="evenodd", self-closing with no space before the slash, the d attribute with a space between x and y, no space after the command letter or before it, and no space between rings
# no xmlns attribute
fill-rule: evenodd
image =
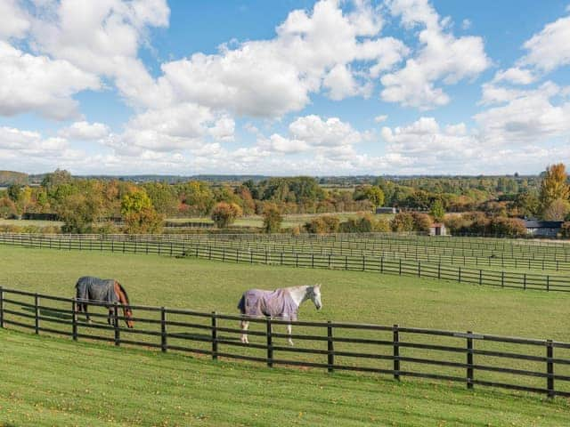
<svg viewBox="0 0 570 427"><path fill-rule="evenodd" d="M85 318L91 323L89 313L87 312L87 304L89 302L104 302L105 307L109 309L108 323L111 324L110 318L113 314L111 306L118 302L123 307L123 315L125 318L126 326L134 327L133 311L130 309L128 295L125 288L114 279L102 279L83 277L77 280L76 297L77 297L77 310L85 312Z"/></svg>

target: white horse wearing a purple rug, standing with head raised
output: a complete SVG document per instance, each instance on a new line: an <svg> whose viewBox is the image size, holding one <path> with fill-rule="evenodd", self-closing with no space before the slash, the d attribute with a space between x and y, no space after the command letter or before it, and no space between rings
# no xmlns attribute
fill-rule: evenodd
<svg viewBox="0 0 570 427"><path fill-rule="evenodd" d="M321 285L283 287L274 291L249 289L241 295L238 310L241 314L251 317L267 316L295 321L299 305L306 300L313 301L316 309L321 310ZM247 344L248 320L241 320L240 326L241 342ZM289 334L289 344L293 345L290 323L287 325L287 334Z"/></svg>

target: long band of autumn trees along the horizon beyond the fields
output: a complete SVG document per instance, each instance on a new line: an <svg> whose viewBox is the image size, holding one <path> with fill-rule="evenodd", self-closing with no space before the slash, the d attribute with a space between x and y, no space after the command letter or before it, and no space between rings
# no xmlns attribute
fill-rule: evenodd
<svg viewBox="0 0 570 427"><path fill-rule="evenodd" d="M282 214L371 212L389 205L426 211L455 232L517 235L516 218L568 220L570 189L565 165L550 165L539 176L367 178L350 189L348 178L248 179L230 184L207 181L176 183L88 179L67 171L45 174L41 185L28 186L22 173L0 173L11 185L0 190L0 217L23 213L57 214L69 232L111 228L105 219L121 218L130 232L156 232L166 217L211 217L225 227L239 216L265 216L266 231L279 230ZM344 187L344 188L343 188ZM468 213L447 215L445 213ZM428 218L429 220L429 218ZM342 230L425 230L425 217L401 214L390 224L356 223ZM354 220L357 222L358 220ZM367 220L369 221L369 220ZM369 221L370 222L370 221ZM337 230L333 219L318 219L306 230Z"/></svg>

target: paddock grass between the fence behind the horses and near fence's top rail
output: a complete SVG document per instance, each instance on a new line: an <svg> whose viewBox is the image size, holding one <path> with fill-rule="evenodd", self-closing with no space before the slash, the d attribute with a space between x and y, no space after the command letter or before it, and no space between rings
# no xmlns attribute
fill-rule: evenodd
<svg viewBox="0 0 570 427"><path fill-rule="evenodd" d="M0 246L0 285L75 296L81 276L117 278L138 305L236 313L252 287L322 284L321 311L300 319L399 324L570 341L570 294L472 286L372 272Z"/></svg>

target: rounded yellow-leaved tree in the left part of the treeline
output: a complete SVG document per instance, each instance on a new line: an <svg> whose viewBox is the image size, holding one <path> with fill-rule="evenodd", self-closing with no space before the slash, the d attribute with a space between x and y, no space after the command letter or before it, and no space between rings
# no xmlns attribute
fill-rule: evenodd
<svg viewBox="0 0 570 427"><path fill-rule="evenodd" d="M127 234L157 233L161 230L164 219L157 214L151 197L143 189L123 196L121 215Z"/></svg>

